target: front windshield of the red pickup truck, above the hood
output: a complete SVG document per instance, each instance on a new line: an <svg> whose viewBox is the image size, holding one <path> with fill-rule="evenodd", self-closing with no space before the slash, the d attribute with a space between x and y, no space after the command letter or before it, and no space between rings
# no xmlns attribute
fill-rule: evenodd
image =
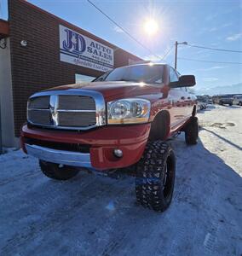
<svg viewBox="0 0 242 256"><path fill-rule="evenodd" d="M164 66L162 65L137 65L118 67L111 72L104 73L96 81L132 81L147 84L161 84L163 82Z"/></svg>

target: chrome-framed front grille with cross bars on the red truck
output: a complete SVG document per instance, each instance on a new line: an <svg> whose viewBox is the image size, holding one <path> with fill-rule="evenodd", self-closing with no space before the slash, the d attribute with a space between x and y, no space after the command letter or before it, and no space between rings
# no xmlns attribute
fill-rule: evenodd
<svg viewBox="0 0 242 256"><path fill-rule="evenodd" d="M48 93L50 95L45 95ZM87 130L106 124L105 102L100 93L87 93L84 90L65 93L53 91L51 94L49 91L32 96L28 102L28 122L32 125L74 130Z"/></svg>

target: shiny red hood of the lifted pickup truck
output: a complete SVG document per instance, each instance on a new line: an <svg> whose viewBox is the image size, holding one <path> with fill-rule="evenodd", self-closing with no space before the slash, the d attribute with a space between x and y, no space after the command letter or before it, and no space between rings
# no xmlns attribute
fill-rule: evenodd
<svg viewBox="0 0 242 256"><path fill-rule="evenodd" d="M101 92L106 101L112 101L120 98L127 98L132 96L146 96L146 95L160 95L162 85L157 84L143 84L136 82L123 81L109 81L109 82L92 82L82 84L68 84L61 85L49 90L96 90Z"/></svg>

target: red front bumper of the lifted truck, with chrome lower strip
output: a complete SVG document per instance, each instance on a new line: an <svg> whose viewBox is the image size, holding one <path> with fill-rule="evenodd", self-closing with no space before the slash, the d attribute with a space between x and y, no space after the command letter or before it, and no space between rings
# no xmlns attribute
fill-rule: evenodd
<svg viewBox="0 0 242 256"><path fill-rule="evenodd" d="M69 166L84 166L99 170L131 166L141 159L147 144L150 124L112 125L91 131L49 131L29 128L21 130L21 144L26 154L40 160ZM29 144L28 138L37 139L42 146ZM89 145L89 153L57 150L44 146L44 142ZM123 157L117 158L113 150L119 148Z"/></svg>

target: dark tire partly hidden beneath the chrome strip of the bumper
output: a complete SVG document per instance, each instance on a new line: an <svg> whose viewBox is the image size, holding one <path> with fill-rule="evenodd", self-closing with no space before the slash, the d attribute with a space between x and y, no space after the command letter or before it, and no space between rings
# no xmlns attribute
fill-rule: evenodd
<svg viewBox="0 0 242 256"><path fill-rule="evenodd" d="M79 172L73 166L63 166L43 160L39 160L39 166L45 176L58 180L69 179L76 176Z"/></svg>

